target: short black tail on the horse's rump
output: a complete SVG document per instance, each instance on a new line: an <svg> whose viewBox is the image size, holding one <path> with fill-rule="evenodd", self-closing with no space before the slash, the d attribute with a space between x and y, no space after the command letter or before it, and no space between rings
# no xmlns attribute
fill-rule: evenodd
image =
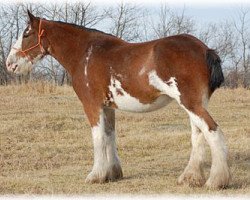
<svg viewBox="0 0 250 200"><path fill-rule="evenodd" d="M214 92L223 83L224 76L220 57L212 49L207 50L207 66L210 71L209 88L211 92Z"/></svg>

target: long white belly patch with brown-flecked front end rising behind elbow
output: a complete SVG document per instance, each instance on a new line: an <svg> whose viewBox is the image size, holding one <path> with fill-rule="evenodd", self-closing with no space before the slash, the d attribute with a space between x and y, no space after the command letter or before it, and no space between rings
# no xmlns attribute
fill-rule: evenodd
<svg viewBox="0 0 250 200"><path fill-rule="evenodd" d="M120 81L111 77L109 90L112 93L113 101L117 105L118 109L131 112L149 112L157 110L167 105L170 102L170 98L166 95L158 97L151 104L143 104L135 97L128 94L121 86Z"/></svg>

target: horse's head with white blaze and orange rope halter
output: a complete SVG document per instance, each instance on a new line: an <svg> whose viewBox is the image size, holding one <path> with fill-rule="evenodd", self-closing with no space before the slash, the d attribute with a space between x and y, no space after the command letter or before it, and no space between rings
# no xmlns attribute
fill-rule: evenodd
<svg viewBox="0 0 250 200"><path fill-rule="evenodd" d="M15 74L27 74L32 65L47 52L48 41L43 29L43 20L28 11L29 23L12 47L7 60L8 71Z"/></svg>

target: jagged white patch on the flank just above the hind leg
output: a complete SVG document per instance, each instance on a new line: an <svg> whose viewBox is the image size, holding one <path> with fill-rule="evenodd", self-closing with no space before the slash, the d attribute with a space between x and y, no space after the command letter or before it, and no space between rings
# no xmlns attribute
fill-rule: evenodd
<svg viewBox="0 0 250 200"><path fill-rule="evenodd" d="M161 91L162 94L166 94L175 99L179 104L181 93L178 90L175 77L171 77L167 82L164 82L153 70L148 73L149 84Z"/></svg>

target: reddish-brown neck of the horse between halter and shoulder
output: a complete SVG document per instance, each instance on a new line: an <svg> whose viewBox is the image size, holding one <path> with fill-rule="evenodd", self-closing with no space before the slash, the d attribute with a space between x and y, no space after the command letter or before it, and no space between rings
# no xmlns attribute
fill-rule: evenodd
<svg viewBox="0 0 250 200"><path fill-rule="evenodd" d="M91 33L56 22L51 26L51 32L47 34L50 54L72 75L88 48Z"/></svg>

